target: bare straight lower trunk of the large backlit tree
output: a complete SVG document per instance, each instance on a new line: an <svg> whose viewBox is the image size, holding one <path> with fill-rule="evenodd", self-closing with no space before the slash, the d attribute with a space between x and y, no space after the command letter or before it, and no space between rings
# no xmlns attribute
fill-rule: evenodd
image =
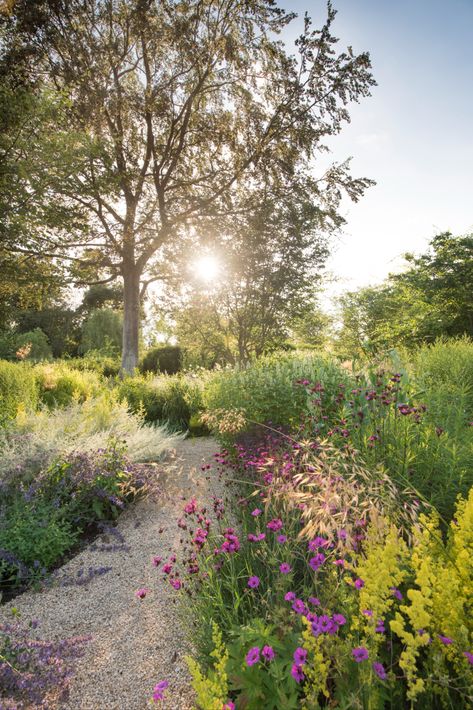
<svg viewBox="0 0 473 710"><path fill-rule="evenodd" d="M123 374L132 375L138 366L139 333L140 274L133 265L123 269Z"/></svg>

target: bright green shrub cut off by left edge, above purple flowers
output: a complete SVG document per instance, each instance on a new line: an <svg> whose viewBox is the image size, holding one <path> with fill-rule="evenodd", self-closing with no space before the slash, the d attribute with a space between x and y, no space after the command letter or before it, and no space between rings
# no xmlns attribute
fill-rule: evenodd
<svg viewBox="0 0 473 710"><path fill-rule="evenodd" d="M33 369L26 363L0 360L0 426L16 417L20 405L32 409L37 403Z"/></svg>

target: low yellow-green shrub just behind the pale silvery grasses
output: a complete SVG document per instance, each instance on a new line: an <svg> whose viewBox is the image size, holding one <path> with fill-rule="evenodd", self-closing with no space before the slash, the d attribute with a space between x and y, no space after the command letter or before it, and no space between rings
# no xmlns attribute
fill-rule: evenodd
<svg viewBox="0 0 473 710"><path fill-rule="evenodd" d="M65 363L38 365L35 373L40 399L50 409L67 407L74 400L84 402L103 389L100 378L94 372L80 372Z"/></svg>

